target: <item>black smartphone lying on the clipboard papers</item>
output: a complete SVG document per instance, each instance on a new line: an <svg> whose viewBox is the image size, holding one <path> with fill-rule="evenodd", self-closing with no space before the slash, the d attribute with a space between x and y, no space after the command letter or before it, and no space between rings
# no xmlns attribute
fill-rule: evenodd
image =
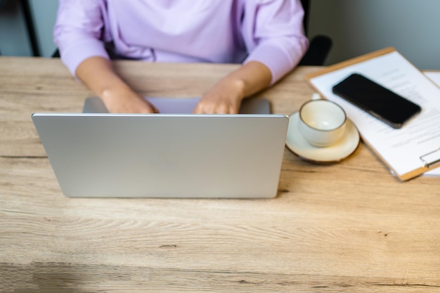
<svg viewBox="0 0 440 293"><path fill-rule="evenodd" d="M333 86L332 91L396 129L422 110L419 105L358 73Z"/></svg>

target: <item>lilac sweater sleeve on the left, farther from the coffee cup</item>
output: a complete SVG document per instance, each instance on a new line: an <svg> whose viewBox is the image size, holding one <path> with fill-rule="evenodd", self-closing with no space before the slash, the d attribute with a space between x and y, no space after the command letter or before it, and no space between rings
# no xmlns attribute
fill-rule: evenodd
<svg viewBox="0 0 440 293"><path fill-rule="evenodd" d="M104 0L59 0L53 40L61 60L76 77L77 67L93 56L109 59L103 44Z"/></svg>

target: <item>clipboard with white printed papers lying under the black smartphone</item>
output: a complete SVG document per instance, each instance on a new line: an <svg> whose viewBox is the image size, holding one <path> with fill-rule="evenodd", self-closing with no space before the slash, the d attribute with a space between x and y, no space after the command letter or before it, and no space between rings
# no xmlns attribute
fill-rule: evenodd
<svg viewBox="0 0 440 293"><path fill-rule="evenodd" d="M420 105L422 112L401 129L393 129L332 93L335 84L355 72ZM344 108L363 141L401 181L440 166L440 87L394 48L325 67L306 80Z"/></svg>

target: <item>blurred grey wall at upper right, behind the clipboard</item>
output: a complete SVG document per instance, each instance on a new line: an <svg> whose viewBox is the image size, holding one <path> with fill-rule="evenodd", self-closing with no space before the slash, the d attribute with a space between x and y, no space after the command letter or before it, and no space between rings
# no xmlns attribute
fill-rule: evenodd
<svg viewBox="0 0 440 293"><path fill-rule="evenodd" d="M333 41L326 65L394 46L421 70L440 70L439 0L311 0L309 37Z"/></svg>

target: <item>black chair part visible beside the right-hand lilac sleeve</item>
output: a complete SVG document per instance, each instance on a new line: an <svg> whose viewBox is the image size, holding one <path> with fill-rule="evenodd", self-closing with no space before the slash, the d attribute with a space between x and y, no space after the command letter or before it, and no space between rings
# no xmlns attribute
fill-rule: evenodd
<svg viewBox="0 0 440 293"><path fill-rule="evenodd" d="M309 15L310 15L310 0L301 0L302 7L304 8L304 31L306 36L309 28ZM299 62L299 65L324 65L325 58L327 58L330 48L332 48L332 39L325 35L317 35L313 39L309 39L309 50Z"/></svg>

